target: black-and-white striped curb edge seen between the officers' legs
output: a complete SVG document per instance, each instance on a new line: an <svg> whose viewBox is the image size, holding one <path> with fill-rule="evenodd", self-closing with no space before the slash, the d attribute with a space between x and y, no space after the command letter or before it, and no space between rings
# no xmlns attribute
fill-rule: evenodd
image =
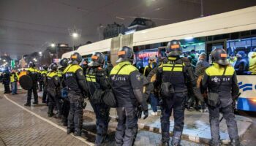
<svg viewBox="0 0 256 146"><path fill-rule="evenodd" d="M89 112L90 114L94 115L94 111L84 109L85 112ZM244 117L244 116L241 116ZM245 117L244 117L245 118ZM116 117L110 115L110 120L116 121ZM222 121L223 122L223 121ZM252 120L249 118L246 118L246 122L249 122L249 126L246 126L246 128L243 128L241 134L239 134L239 138L242 139L245 132L249 129L250 126L252 126ZM157 134L161 134L161 128L156 128L156 127L151 127L147 126L143 123L138 123L138 127L140 129L146 130L146 131L151 131ZM173 131L170 131L170 137L173 135ZM211 139L203 138L203 137L195 137L195 136L189 136L188 134L182 134L181 139L183 140L188 140L190 142L197 142L197 143L203 143L203 144L208 144L208 142ZM222 144L228 144L230 142L230 139L221 139Z"/></svg>

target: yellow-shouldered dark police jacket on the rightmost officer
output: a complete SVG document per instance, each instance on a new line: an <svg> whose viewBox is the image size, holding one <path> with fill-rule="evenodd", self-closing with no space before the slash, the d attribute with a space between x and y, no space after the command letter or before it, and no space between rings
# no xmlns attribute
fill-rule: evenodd
<svg viewBox="0 0 256 146"><path fill-rule="evenodd" d="M225 67L216 63L208 67L203 74L202 86L204 89L208 88L208 92L219 93L221 106L227 107L233 102L232 97L238 95L239 88L235 69L232 66L227 66L224 77L222 77L224 70ZM221 80L222 84L219 86Z"/></svg>

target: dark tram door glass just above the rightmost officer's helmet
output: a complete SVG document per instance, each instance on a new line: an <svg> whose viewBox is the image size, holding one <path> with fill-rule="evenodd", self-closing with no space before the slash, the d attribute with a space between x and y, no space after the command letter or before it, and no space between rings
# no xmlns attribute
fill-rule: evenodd
<svg viewBox="0 0 256 146"><path fill-rule="evenodd" d="M222 48L227 51L227 40L222 39L217 41L206 42L206 55L207 55L208 61L209 61L209 55L211 51L214 50L215 48Z"/></svg>

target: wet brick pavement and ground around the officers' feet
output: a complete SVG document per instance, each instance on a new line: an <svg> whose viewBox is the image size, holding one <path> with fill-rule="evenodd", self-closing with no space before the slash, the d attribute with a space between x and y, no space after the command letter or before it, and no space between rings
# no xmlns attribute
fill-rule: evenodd
<svg viewBox="0 0 256 146"><path fill-rule="evenodd" d="M26 101L26 92L21 90L19 90L19 92L20 94L15 96L10 94L4 96L2 92L0 92L0 145L91 145L91 143L94 142L96 126L94 113L90 110L90 104L87 105L83 114L82 137L73 137L72 135L66 134L66 127L62 126L61 120L48 118L48 107L46 107L45 104L23 107ZM10 101L5 97L10 99ZM21 107L26 110L23 110ZM108 130L109 136L105 145L114 144L114 134L117 124L115 120L116 112L111 110L110 115L113 118L110 121ZM237 116L238 120L240 117L241 116ZM171 118L171 121L172 120ZM246 131L242 140L244 145L255 145L256 142L254 138L256 118L252 118L252 120L253 123L249 130L246 131L246 129L244 129L244 131ZM51 123L49 123L49 121ZM248 119L245 120L246 123L250 123L248 121ZM195 141L195 135L200 134L196 131L197 129L205 129L206 137L210 137L207 124L207 113L186 112L184 133L186 134L186 132L190 130L192 135L189 137L184 136L184 140L182 140L181 143L183 145L206 145L204 144L206 141L198 141L201 144L191 141ZM135 145L159 145L161 140L161 135L159 134L160 129L158 128L160 125L159 116L150 115L148 119L140 120L139 125L140 130L138 131ZM225 120L222 121L221 125L223 125L221 128L225 129ZM222 132L225 133L225 130Z"/></svg>

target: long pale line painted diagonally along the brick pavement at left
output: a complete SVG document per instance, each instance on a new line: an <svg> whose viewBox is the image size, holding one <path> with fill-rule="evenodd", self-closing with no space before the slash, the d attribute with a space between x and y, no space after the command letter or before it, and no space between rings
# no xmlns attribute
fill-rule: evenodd
<svg viewBox="0 0 256 146"><path fill-rule="evenodd" d="M9 99L6 95L4 95L4 98L7 99L8 101L12 102L12 104L17 105L17 106L20 107L21 109L26 110L26 112L31 113L31 115L34 115L34 116L36 116L37 118L39 118L39 119L41 119L41 120L45 120L45 122L50 123L52 126L55 126L56 128L59 128L59 129L61 129L61 130L64 131L64 132L67 132L67 129L66 129L66 128L63 128L63 127L57 125L56 123L53 123L52 121L50 121L50 120L48 120L48 119L46 119L46 118L43 118L43 117L40 116L40 115L37 115L36 113L32 112L31 110L26 109L25 107L21 106L20 104L16 103L15 101L12 101L12 99ZM72 137L75 137L74 134L69 134L69 135L72 135ZM86 143L87 145L90 145L90 146L93 146L93 145L94 145L94 144L91 143L91 142L87 142L86 139L83 139L82 137L75 137L75 138L76 138L76 139L79 139L80 141L82 141L82 142L84 142L84 143Z"/></svg>

